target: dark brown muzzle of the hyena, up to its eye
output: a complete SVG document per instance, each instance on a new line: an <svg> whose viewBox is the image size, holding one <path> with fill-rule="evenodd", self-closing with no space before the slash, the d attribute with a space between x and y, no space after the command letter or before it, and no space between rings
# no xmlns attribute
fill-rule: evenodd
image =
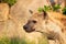
<svg viewBox="0 0 66 44"><path fill-rule="evenodd" d="M30 21L23 26L23 29L24 29L26 32L33 32L33 31L35 31L35 28L34 28L35 24L36 24L36 21L35 21L35 20L30 20Z"/></svg>

